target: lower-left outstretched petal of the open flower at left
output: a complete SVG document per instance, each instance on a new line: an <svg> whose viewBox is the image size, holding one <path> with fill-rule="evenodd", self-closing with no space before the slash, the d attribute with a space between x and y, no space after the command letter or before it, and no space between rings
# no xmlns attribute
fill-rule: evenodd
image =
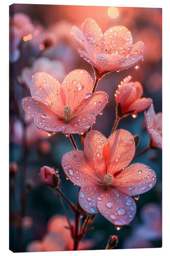
<svg viewBox="0 0 170 256"><path fill-rule="evenodd" d="M22 107L25 112L34 118L36 126L46 132L63 132L64 122L60 120L50 106L34 97L22 99Z"/></svg>

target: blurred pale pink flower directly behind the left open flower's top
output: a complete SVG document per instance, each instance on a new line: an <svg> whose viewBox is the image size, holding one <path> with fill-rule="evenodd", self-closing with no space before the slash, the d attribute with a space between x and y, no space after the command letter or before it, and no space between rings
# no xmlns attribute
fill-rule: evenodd
<svg viewBox="0 0 170 256"><path fill-rule="evenodd" d="M28 88L31 88L32 76L37 72L51 74L57 78L59 82L61 82L66 75L61 61L40 57L33 62L31 68L23 68L20 79L28 86Z"/></svg>

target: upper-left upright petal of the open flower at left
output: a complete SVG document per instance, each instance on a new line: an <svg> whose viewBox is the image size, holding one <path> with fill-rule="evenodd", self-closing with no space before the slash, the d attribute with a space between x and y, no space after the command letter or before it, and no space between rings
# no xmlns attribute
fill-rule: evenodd
<svg viewBox="0 0 170 256"><path fill-rule="evenodd" d="M45 104L51 105L63 115L63 102L60 95L60 83L50 74L37 72L32 76L31 95Z"/></svg>

